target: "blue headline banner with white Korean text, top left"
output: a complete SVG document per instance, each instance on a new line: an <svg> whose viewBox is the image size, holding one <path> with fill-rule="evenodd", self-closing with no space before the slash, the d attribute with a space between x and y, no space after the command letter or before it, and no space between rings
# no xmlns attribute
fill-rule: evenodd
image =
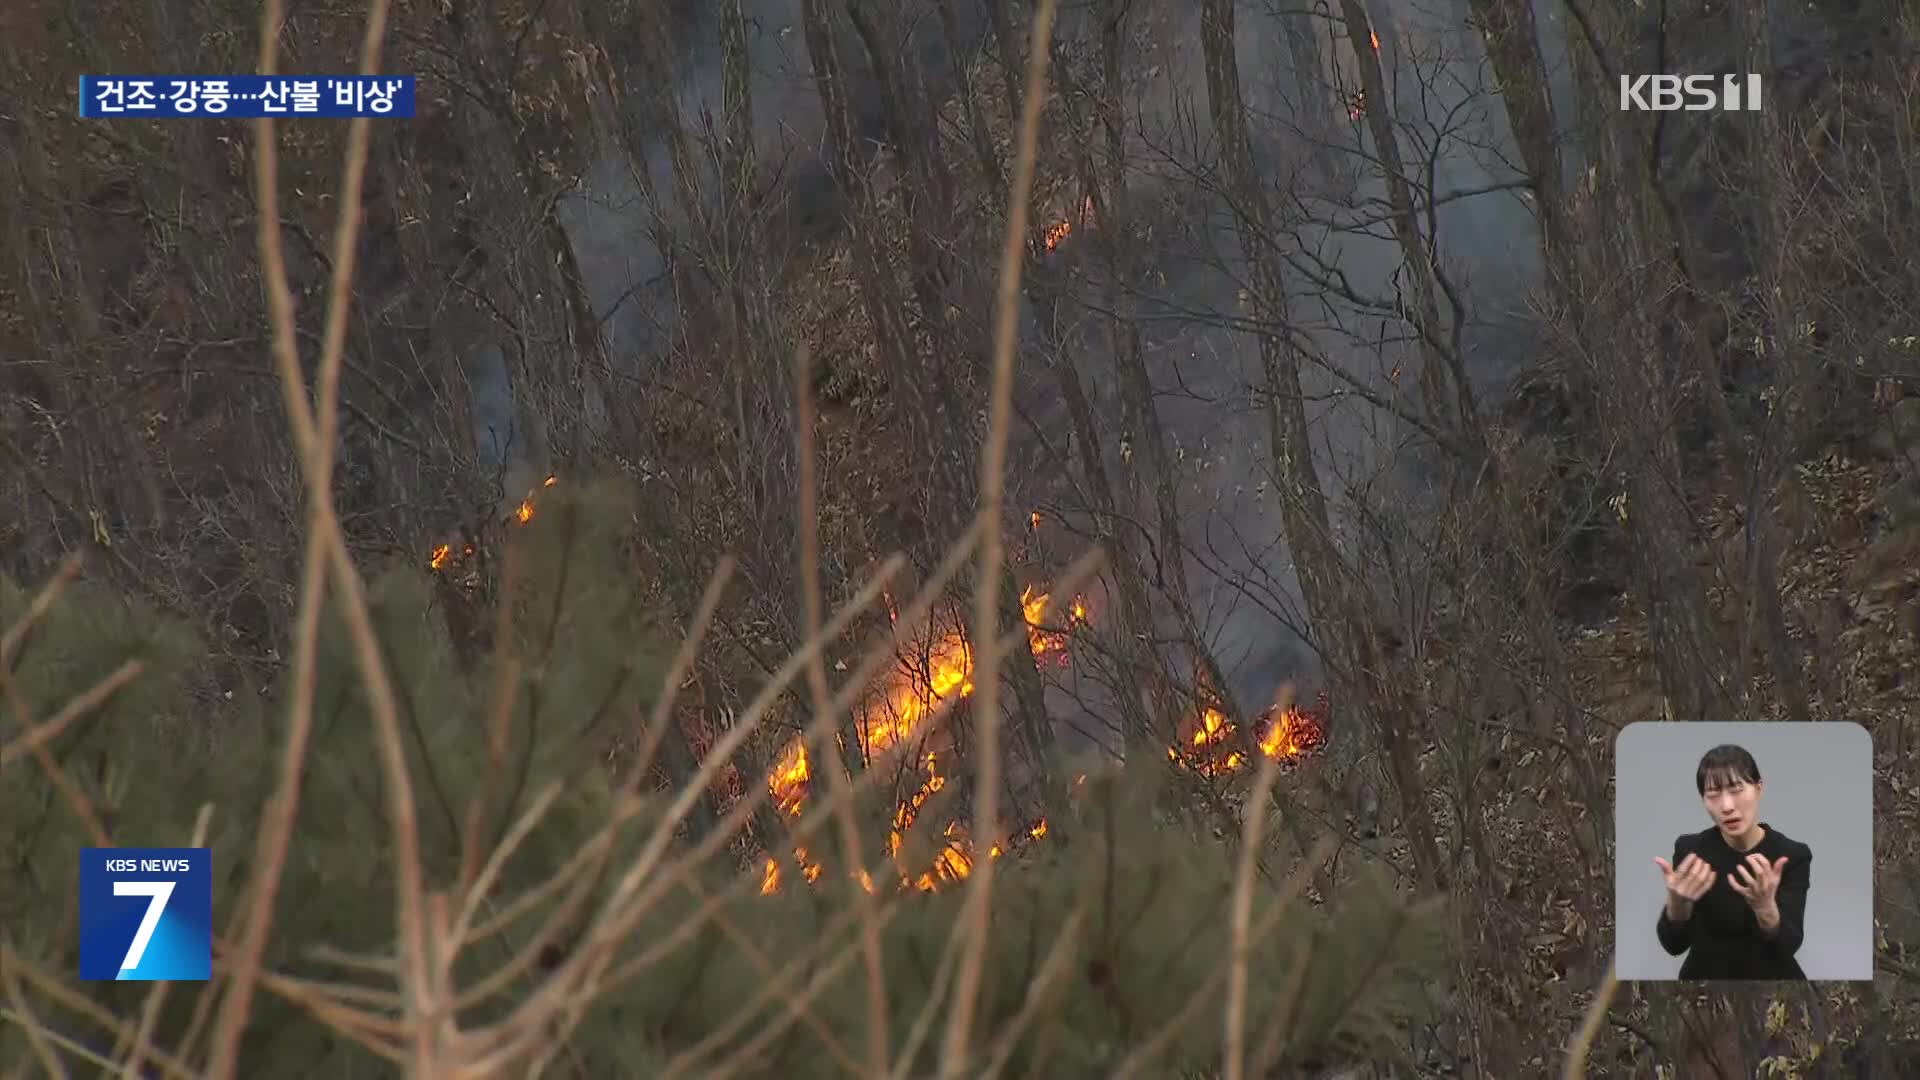
<svg viewBox="0 0 1920 1080"><path fill-rule="evenodd" d="M413 117L413 75L81 75L81 117Z"/></svg>

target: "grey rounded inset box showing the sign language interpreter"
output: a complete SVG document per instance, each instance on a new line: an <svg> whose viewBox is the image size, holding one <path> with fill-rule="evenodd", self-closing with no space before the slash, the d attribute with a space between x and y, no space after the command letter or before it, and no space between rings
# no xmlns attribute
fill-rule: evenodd
<svg viewBox="0 0 1920 1080"><path fill-rule="evenodd" d="M1874 978L1874 744L1860 724L1628 724L1615 857L1620 978Z"/></svg>

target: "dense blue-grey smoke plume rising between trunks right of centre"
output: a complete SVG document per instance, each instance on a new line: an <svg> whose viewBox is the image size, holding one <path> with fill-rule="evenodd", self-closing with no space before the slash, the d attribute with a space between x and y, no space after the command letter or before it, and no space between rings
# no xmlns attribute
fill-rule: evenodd
<svg viewBox="0 0 1920 1080"><path fill-rule="evenodd" d="M1185 540L1194 550L1188 590L1225 669L1223 690L1242 709L1258 711L1284 682L1311 688L1319 663L1300 636L1308 619L1281 542L1267 421L1254 392L1261 384L1258 342L1231 329L1248 313L1248 275L1231 208L1208 190L1213 146L1196 8L1177 4L1137 13L1164 29L1142 33L1152 44L1129 58L1150 75L1129 117L1131 156L1140 163L1131 198L1135 206L1150 206L1164 225L1150 240L1156 275L1135 307L1150 327L1146 356L1160 394L1158 415L1181 477ZM1236 58L1256 165L1277 190L1311 192L1288 208L1298 217L1300 263L1357 296L1411 302L1402 250L1386 221L1388 192L1371 160L1371 135L1346 113L1346 94L1361 81L1338 4L1315 4L1306 19L1317 71L1298 71L1292 63L1284 17L1298 10L1296 0L1248 2L1236 10ZM1513 165L1519 161L1513 135L1490 85L1484 42L1465 13L1465 0L1448 0L1438 10L1409 0L1369 4L1400 121L1400 154L1417 171L1417 198L1419 171L1432 171L1438 192L1432 234L1442 271L1467 311L1459 336L1469 373L1476 390L1488 394L1526 356L1528 302L1540 282L1540 261L1532 209ZM1542 37L1557 44L1557 21L1548 19ZM1557 104L1569 96L1563 56L1563 48L1548 50L1549 65L1561 67ZM1334 115L1308 111L1313 94L1304 92L1304 79L1332 85L1327 106L1338 110ZM1194 161L1202 165L1196 169ZM1344 380L1413 405L1411 375L1396 382L1394 373L1415 373L1419 354L1396 311L1329 300L1308 284L1300 286L1290 317L1327 367L1304 373L1304 392L1336 540L1352 550L1359 542L1357 507L1348 492L1407 505L1428 496L1404 452L1411 432L1348 394ZM1169 634L1173 626L1160 630Z"/></svg>

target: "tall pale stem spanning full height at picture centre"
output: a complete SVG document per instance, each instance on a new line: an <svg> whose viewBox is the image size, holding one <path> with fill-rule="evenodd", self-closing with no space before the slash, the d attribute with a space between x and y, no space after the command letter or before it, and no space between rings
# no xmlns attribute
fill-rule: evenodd
<svg viewBox="0 0 1920 1080"><path fill-rule="evenodd" d="M1000 569L1006 444L1014 415L1014 346L1020 336L1020 275L1025 267L1027 213L1033 200L1033 161L1041 140L1041 108L1046 96L1046 56L1054 33L1054 0L1039 0L1027 42L1027 88L1021 100L1020 150L1006 209L1006 242L1000 248L1000 296L993 331L993 390L987 405L987 444L979 455L979 580L973 582L973 723L977 782L973 790L973 838L987 844L1000 817ZM993 905L993 859L983 859L968 880L966 905L956 928L966 934L952 1013L941 1043L941 1074L958 1076L973 1038L981 974L987 963Z"/></svg>

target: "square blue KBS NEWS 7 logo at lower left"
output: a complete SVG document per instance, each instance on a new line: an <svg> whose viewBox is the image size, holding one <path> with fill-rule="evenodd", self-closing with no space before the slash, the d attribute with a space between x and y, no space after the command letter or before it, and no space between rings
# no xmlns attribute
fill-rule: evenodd
<svg viewBox="0 0 1920 1080"><path fill-rule="evenodd" d="M81 847L81 978L213 978L213 851Z"/></svg>

